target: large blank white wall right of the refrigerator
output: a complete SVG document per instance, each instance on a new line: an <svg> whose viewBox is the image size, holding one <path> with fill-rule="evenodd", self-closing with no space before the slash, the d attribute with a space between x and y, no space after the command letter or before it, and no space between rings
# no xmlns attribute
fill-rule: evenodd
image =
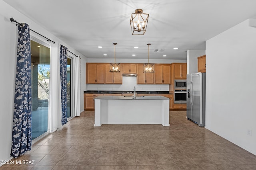
<svg viewBox="0 0 256 170"><path fill-rule="evenodd" d="M255 21L255 19L254 19ZM256 28L246 20L206 41L206 129L256 154ZM248 130L252 135L247 135Z"/></svg>

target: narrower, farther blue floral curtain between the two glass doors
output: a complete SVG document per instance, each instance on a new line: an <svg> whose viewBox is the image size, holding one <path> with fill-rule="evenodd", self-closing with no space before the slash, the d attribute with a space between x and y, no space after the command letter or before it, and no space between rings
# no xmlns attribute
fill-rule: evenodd
<svg viewBox="0 0 256 170"><path fill-rule="evenodd" d="M61 110L62 119L61 124L68 122L67 119L67 59L68 48L60 45L60 86L61 86Z"/></svg>

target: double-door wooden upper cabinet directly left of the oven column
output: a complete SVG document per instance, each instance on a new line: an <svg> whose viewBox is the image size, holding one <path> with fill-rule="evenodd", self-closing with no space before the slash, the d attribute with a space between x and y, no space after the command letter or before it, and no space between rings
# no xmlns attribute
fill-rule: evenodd
<svg viewBox="0 0 256 170"><path fill-rule="evenodd" d="M155 64L154 84L171 84L171 65Z"/></svg>

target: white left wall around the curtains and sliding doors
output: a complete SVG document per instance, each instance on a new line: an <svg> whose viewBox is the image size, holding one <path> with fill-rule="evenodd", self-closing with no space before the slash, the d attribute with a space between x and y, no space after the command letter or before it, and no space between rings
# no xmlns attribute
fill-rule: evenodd
<svg viewBox="0 0 256 170"><path fill-rule="evenodd" d="M46 11L47 12L47 11ZM0 0L0 51L1 51L1 61L0 66L0 160L10 159L10 150L12 144L12 119L13 119L13 108L14 108L14 80L16 71L16 51L17 51L17 27L15 23L10 22L9 18L14 18L14 20L20 23L28 23L30 28L42 35L52 39L53 41L58 41L60 44L68 47L69 51L72 51L76 55L81 56L81 84L85 84L85 63L86 58L75 51L72 47L54 37L50 32L46 31L41 25L38 25L34 21L30 20L4 1ZM84 70L84 72L82 72ZM84 78L83 78L84 77ZM83 91L86 90L86 86L81 85L81 110L83 110L84 100ZM1 166L1 164L0 164Z"/></svg>

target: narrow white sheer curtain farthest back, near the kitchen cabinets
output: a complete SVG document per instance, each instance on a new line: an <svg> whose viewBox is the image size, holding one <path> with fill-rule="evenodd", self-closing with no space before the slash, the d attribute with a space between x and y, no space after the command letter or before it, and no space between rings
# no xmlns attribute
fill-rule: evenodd
<svg viewBox="0 0 256 170"><path fill-rule="evenodd" d="M75 116L80 116L80 56L75 57L75 94L74 94L74 107Z"/></svg>

